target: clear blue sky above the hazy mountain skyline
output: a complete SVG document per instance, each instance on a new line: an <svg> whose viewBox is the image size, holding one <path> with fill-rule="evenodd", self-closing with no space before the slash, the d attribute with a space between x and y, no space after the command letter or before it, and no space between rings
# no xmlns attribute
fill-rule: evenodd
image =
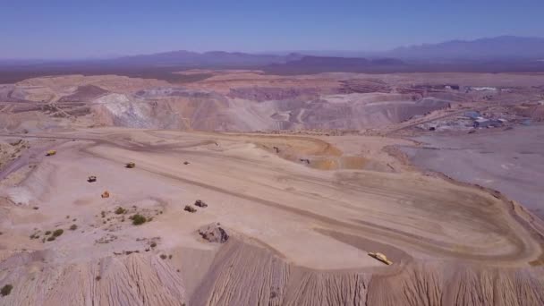
<svg viewBox="0 0 544 306"><path fill-rule="evenodd" d="M450 39L544 37L543 13L543 0L0 0L0 58L383 50Z"/></svg>

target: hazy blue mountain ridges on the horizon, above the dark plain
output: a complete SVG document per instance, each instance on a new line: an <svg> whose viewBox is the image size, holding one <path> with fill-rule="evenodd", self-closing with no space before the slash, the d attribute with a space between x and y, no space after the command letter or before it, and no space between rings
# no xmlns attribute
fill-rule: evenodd
<svg viewBox="0 0 544 306"><path fill-rule="evenodd" d="M348 51L301 51L293 53L249 54L241 52L212 51L197 53L191 51L174 51L153 55L124 56L111 59L114 64L139 65L187 65L187 66L262 66L268 64L286 64L301 61L327 65L336 61L337 65L361 64L365 61L345 61L343 58L370 58L374 61L386 58L397 58L404 62L453 62L453 61L496 61L496 60L540 60L544 59L544 38L521 38L501 36L497 38L480 38L475 40L451 40L438 44L424 44L411 47L397 47L383 52L348 52ZM310 63L296 63L310 64ZM375 62L372 64L380 64ZM399 64L399 63L395 63Z"/></svg>

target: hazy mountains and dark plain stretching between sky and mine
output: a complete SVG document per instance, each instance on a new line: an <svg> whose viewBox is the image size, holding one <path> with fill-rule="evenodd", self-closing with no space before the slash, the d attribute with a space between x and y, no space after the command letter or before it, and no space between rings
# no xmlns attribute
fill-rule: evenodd
<svg viewBox="0 0 544 306"><path fill-rule="evenodd" d="M173 51L92 60L1 60L0 83L53 74L121 74L180 81L192 68L319 72L544 72L544 38L502 36L398 47L384 52L305 51L271 54ZM187 81L187 80L182 80Z"/></svg>

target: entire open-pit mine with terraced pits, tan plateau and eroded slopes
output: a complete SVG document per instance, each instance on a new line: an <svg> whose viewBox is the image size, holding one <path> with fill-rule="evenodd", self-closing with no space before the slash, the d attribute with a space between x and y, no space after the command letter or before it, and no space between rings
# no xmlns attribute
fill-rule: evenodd
<svg viewBox="0 0 544 306"><path fill-rule="evenodd" d="M543 305L544 74L0 85L0 305Z"/></svg>

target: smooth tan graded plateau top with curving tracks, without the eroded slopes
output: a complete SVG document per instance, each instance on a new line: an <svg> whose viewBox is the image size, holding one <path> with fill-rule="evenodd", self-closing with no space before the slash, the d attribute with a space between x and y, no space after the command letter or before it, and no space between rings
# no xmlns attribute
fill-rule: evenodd
<svg viewBox="0 0 544 306"><path fill-rule="evenodd" d="M164 241L171 246L191 242L192 231L218 221L301 266L319 269L376 266L378 261L366 256L371 247L355 248L316 229L363 235L423 258L523 264L540 256L538 243L500 201L441 179L404 172L312 169L259 149L259 137L251 136L107 129L64 135L79 136L97 141L59 146L59 154L44 159L22 186L4 189L8 200L19 203L21 214L25 207L39 206L30 211L30 219L47 220L49 226L64 223L66 214L94 223L90 219L100 210L145 203L141 205L165 209L153 227L157 235L169 236ZM294 148L309 151L319 147L319 142L298 138L262 140L276 140L280 147L293 142ZM345 143L339 147L347 147L347 152L354 149L347 145L353 140L337 141ZM359 141L365 143L364 138ZM138 167L123 168L131 160ZM191 164L183 165L184 160ZM98 183L85 182L90 174L98 176ZM110 199L99 198L104 190L111 192ZM201 198L211 207L195 215L183 212L185 204ZM36 224L12 226L31 232ZM172 236L174 232L178 233ZM331 248L343 249L343 256L328 252Z"/></svg>

